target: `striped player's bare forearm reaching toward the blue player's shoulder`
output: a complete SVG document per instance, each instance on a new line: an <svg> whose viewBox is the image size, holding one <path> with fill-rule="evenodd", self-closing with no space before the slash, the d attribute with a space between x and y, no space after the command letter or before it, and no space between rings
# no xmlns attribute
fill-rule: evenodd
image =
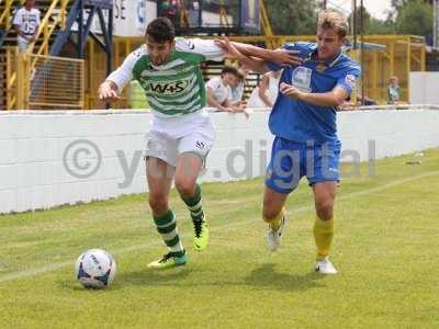
<svg viewBox="0 0 439 329"><path fill-rule="evenodd" d="M232 43L236 49L245 56L257 57L262 60L273 61L280 66L301 65L302 58L299 57L299 50L286 49L264 49L248 44Z"/></svg>

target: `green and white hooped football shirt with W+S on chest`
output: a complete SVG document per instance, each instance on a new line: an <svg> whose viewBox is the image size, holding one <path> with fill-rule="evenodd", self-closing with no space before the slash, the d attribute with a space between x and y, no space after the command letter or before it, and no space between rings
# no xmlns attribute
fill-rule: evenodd
<svg viewBox="0 0 439 329"><path fill-rule="evenodd" d="M128 55L122 66L106 80L121 91L136 79L155 114L180 116L194 113L206 104L206 92L200 63L223 60L225 52L211 39L176 39L169 63L154 66L146 46Z"/></svg>

